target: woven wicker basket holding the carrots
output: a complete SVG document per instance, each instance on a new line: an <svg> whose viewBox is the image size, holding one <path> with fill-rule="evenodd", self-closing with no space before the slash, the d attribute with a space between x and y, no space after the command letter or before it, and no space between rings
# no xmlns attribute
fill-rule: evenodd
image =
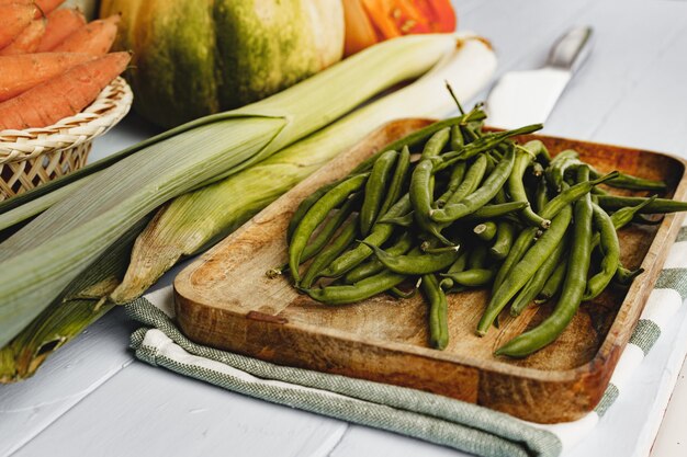
<svg viewBox="0 0 687 457"><path fill-rule="evenodd" d="M128 113L132 100L120 77L75 116L49 127L0 130L0 202L83 167L93 139Z"/></svg>

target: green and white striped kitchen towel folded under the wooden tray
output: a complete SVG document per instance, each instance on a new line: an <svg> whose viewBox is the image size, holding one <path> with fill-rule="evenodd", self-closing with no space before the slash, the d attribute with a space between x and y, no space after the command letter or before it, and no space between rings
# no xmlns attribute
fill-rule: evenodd
<svg viewBox="0 0 687 457"><path fill-rule="evenodd" d="M630 343L596 409L540 425L419 390L284 367L189 341L173 323L171 286L127 305L144 328L136 356L154 366L279 404L383 429L480 456L560 456L592 432L687 298L687 225L665 262Z"/></svg>

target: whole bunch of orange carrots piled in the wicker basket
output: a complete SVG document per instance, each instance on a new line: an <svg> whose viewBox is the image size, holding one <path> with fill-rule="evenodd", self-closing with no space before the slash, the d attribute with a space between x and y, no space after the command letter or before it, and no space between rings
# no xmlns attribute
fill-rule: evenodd
<svg viewBox="0 0 687 457"><path fill-rule="evenodd" d="M119 15L87 23L64 0L0 0L0 130L72 116L128 64L111 53Z"/></svg>

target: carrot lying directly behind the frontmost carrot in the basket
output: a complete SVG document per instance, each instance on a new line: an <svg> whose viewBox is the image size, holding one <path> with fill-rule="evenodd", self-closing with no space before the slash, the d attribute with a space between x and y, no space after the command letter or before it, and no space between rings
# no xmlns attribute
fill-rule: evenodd
<svg viewBox="0 0 687 457"><path fill-rule="evenodd" d="M0 57L0 102L64 73L71 67L93 60L91 54L38 53Z"/></svg>

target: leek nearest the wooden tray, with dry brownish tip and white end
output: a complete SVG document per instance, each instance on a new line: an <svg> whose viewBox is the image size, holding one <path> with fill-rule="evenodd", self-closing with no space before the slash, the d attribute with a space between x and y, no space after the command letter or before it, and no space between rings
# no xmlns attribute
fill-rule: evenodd
<svg viewBox="0 0 687 457"><path fill-rule="evenodd" d="M126 276L111 299L117 304L134 300L180 259L214 244L383 124L450 113L455 105L444 81L451 83L458 96L468 100L484 87L495 67L488 45L473 35L463 35L453 53L410 85L240 173L177 197L157 213L136 240Z"/></svg>

